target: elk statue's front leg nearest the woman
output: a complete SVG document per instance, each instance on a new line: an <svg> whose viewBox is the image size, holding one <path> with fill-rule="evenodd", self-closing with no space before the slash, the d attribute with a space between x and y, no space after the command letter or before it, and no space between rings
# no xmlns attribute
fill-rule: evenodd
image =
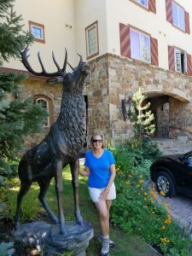
<svg viewBox="0 0 192 256"><path fill-rule="evenodd" d="M77 223L80 225L84 225L84 220L81 216L79 210L79 159L74 160L73 163L70 164L71 173L72 173L72 185L73 185L73 196L74 196L74 215L77 220Z"/></svg>

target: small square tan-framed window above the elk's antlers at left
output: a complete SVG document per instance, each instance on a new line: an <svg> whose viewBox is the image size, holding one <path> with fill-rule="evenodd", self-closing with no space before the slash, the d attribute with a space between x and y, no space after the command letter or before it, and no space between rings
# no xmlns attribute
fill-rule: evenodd
<svg viewBox="0 0 192 256"><path fill-rule="evenodd" d="M45 43L44 25L29 21L29 31L32 33L34 41Z"/></svg>

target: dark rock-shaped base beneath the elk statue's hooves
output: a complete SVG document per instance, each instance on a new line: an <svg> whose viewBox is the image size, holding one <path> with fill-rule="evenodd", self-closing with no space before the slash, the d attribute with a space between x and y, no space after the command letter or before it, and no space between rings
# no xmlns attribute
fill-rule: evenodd
<svg viewBox="0 0 192 256"><path fill-rule="evenodd" d="M75 222L67 222L67 236L60 234L59 224L48 224L37 221L21 224L20 229L13 233L16 242L25 246L34 246L44 255L61 255L72 252L73 256L85 256L94 230L90 223L84 221L84 226Z"/></svg>

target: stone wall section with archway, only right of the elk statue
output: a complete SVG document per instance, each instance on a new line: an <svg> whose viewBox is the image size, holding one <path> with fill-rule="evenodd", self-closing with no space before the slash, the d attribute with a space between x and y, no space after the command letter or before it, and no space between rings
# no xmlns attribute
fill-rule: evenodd
<svg viewBox="0 0 192 256"><path fill-rule="evenodd" d="M107 135L108 140L111 137L113 140L131 137L132 125L130 121L123 120L121 99L126 90L134 93L139 87L149 99L154 96L168 97L169 117L166 113L164 121L169 119L169 125L173 127L171 137L178 133L174 127L183 134L192 131L192 79L188 75L111 54L96 58L90 65L90 84L86 88L90 102L88 136L99 129Z"/></svg>

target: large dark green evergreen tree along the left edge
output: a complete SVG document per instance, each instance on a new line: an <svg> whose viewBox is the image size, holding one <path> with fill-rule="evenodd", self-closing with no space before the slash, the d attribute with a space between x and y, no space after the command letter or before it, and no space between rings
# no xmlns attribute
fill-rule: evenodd
<svg viewBox="0 0 192 256"><path fill-rule="evenodd" d="M19 50L32 43L32 35L22 30L21 17L13 10L13 0L0 0L0 63L19 57ZM33 104L32 98L20 102L14 94L24 75L0 72L0 184L12 170L8 161L22 148L23 139L43 127L48 113Z"/></svg>

